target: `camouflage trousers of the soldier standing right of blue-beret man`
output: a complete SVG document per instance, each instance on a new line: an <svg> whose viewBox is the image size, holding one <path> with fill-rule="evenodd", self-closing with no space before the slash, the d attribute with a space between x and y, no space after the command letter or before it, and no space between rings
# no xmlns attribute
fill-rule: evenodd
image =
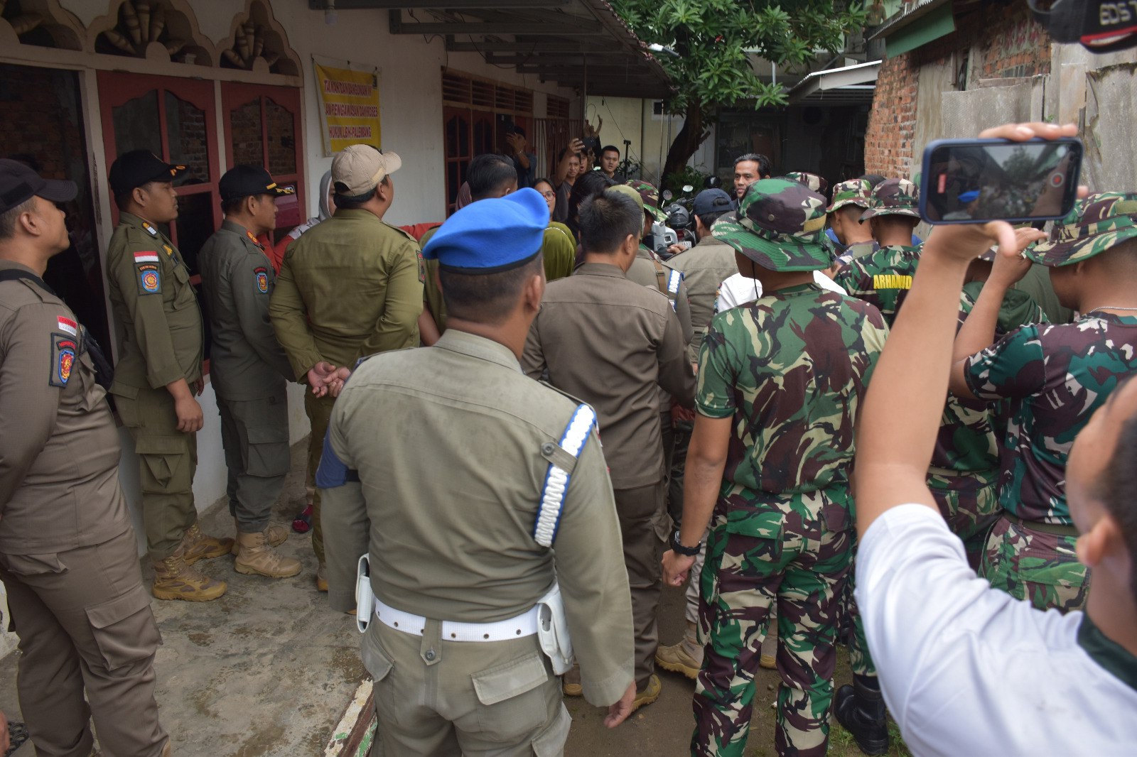
<svg viewBox="0 0 1137 757"><path fill-rule="evenodd" d="M852 564L845 486L755 502L720 499L707 536L699 600L703 668L695 684L692 755L744 754L771 605L778 602L779 755L825 754L836 640ZM750 501L747 501L750 500Z"/></svg>

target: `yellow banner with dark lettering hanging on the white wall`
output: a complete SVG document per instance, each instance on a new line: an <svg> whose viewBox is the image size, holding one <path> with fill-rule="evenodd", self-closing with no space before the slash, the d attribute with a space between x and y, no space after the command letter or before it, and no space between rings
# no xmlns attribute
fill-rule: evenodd
<svg viewBox="0 0 1137 757"><path fill-rule="evenodd" d="M313 63L324 152L339 152L349 144L382 147L379 125L379 75L374 70L332 68Z"/></svg>

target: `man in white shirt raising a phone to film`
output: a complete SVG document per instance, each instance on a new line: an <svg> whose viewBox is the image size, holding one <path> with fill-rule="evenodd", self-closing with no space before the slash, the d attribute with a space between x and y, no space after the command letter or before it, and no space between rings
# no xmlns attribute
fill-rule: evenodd
<svg viewBox="0 0 1137 757"><path fill-rule="evenodd" d="M1026 124L980 136L1074 133ZM924 484L968 265L993 241L1014 255L1043 236L1004 222L937 226L861 408L856 598L888 709L918 756L1137 749L1137 382L1112 392L1065 468L1078 558L1094 571L1085 613L1043 613L978 579ZM843 687L837 712L857 693Z"/></svg>

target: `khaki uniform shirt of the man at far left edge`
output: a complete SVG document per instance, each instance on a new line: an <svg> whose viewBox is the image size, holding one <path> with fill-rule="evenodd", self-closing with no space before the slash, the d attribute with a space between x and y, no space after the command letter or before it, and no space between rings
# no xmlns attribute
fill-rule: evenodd
<svg viewBox="0 0 1137 757"><path fill-rule="evenodd" d="M0 551L48 556L130 530L119 451L75 315L30 281L0 282Z"/></svg>

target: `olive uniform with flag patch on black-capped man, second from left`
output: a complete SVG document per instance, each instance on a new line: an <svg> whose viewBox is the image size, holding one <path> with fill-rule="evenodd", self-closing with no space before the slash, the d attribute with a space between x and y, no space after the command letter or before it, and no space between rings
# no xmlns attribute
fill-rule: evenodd
<svg viewBox="0 0 1137 757"><path fill-rule="evenodd" d="M107 280L115 321L125 330L110 393L139 456L147 548L163 560L198 517L197 435L177 430L166 384L201 377L201 309L177 248L128 213L119 214L110 238Z"/></svg>

